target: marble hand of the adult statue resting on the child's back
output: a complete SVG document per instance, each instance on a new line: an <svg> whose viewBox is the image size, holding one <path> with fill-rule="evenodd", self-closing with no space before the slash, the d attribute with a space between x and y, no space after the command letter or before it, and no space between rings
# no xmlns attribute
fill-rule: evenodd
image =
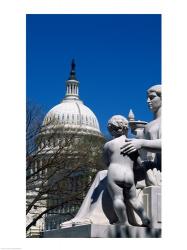
<svg viewBox="0 0 187 250"><path fill-rule="evenodd" d="M121 147L121 154L129 155L142 147L141 139L126 139L125 144Z"/></svg>

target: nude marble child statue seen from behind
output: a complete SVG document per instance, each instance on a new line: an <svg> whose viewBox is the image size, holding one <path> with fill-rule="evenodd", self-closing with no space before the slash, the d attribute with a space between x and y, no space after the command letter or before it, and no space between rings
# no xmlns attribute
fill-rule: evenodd
<svg viewBox="0 0 187 250"><path fill-rule="evenodd" d="M136 197L133 167L136 162L141 162L137 152L123 156L121 147L128 133L128 120L121 116L112 116L108 121L108 130L113 140L104 145L104 158L108 166L107 188L112 198L113 207L119 223L129 225L126 212L126 203L134 209L142 220L142 226L149 226L150 220L144 208Z"/></svg>

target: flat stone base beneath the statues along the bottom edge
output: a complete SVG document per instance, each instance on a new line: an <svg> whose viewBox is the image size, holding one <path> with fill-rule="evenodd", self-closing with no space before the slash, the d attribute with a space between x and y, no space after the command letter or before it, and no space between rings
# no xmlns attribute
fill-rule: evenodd
<svg viewBox="0 0 187 250"><path fill-rule="evenodd" d="M46 231L44 238L160 238L161 229L88 224Z"/></svg>

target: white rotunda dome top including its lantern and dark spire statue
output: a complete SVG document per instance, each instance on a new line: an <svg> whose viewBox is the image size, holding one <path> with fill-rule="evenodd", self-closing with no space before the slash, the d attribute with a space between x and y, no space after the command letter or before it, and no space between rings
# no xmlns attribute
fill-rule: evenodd
<svg viewBox="0 0 187 250"><path fill-rule="evenodd" d="M75 78L75 63L72 61L70 77L66 81L66 95L44 118L43 125L55 121L55 126L69 132L101 135L95 114L79 99L79 82Z"/></svg>

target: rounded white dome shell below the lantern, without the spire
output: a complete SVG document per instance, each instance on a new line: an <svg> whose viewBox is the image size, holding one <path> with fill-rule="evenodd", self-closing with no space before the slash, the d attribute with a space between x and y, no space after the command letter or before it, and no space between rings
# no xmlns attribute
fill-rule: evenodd
<svg viewBox="0 0 187 250"><path fill-rule="evenodd" d="M101 134L95 114L81 100L66 100L53 107L45 116L43 125L55 124L88 134Z"/></svg>

